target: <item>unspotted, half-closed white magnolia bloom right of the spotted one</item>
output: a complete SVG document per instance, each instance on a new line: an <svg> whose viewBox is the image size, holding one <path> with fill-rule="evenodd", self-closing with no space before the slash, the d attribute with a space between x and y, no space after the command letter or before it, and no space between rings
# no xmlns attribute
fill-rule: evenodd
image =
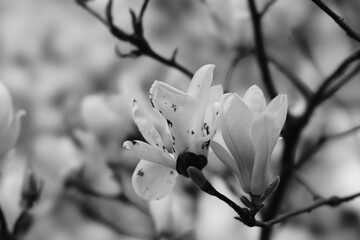
<svg viewBox="0 0 360 240"><path fill-rule="evenodd" d="M222 98L221 134L214 137L211 148L235 172L253 201L264 201L279 183L269 161L285 123L287 108L284 94L266 106L263 92L256 85L243 98L236 93Z"/></svg>

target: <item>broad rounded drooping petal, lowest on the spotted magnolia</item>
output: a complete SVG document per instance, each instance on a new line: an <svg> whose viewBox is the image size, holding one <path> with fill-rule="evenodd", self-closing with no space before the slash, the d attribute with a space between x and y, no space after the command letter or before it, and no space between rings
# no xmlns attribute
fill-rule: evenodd
<svg viewBox="0 0 360 240"><path fill-rule="evenodd" d="M140 197L146 200L158 200L171 192L177 176L174 169L140 160L132 176L132 183Z"/></svg>

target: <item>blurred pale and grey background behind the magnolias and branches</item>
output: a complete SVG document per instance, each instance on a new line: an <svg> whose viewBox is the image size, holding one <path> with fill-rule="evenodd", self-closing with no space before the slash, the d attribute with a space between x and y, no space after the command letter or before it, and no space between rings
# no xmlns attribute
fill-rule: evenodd
<svg viewBox="0 0 360 240"><path fill-rule="evenodd" d="M324 1L360 32L360 2ZM104 16L106 0L87 5ZM114 0L115 23L131 32L129 9L142 1ZM267 0L258 0L259 8ZM277 0L263 18L266 50L310 89L357 47L311 1ZM195 72L215 64L214 84L243 94L263 88L246 0L151 0L144 16L145 37L159 54ZM138 159L122 148L142 139L131 116L134 98L150 107L154 80L186 89L190 79L148 57L119 58L133 49L74 0L0 1L0 81L16 109L24 109L17 148L9 153L0 178L0 203L12 229L24 210L22 192L28 172L44 186L23 232L29 240L111 239L258 239L259 229L233 219L222 202L197 191L186 179L167 198L145 202L132 190ZM303 96L278 68L275 85L286 93L289 110L301 113ZM360 123L359 76L315 112L299 144L299 159L319 139ZM270 99L268 99L270 100ZM360 191L360 133L326 142L310 156L299 176L320 196ZM227 185L229 171L210 159L207 175L238 201ZM30 170L29 170L30 169ZM237 200L236 200L237 199ZM311 204L298 181L282 211ZM359 239L360 200L323 207L275 227L274 239Z"/></svg>

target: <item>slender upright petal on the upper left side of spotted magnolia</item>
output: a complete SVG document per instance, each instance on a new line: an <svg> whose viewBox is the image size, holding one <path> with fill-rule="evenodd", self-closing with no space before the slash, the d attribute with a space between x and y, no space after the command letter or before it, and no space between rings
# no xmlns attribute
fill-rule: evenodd
<svg viewBox="0 0 360 240"><path fill-rule="evenodd" d="M148 143L151 145L156 145L160 148L163 148L164 144L162 143L161 137L156 131L152 120L135 99L133 102L133 117L135 124L137 125L145 140L148 141Z"/></svg>

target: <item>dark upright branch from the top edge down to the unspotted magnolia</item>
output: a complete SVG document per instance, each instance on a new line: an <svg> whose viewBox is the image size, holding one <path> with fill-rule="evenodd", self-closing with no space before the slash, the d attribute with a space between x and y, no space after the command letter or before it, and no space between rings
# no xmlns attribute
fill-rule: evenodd
<svg viewBox="0 0 360 240"><path fill-rule="evenodd" d="M261 15L257 10L255 0L248 0L249 10L254 30L254 38L256 45L256 56L260 67L261 75L265 87L271 98L276 97L277 92L271 77L270 69L265 52L264 36L262 32Z"/></svg>

